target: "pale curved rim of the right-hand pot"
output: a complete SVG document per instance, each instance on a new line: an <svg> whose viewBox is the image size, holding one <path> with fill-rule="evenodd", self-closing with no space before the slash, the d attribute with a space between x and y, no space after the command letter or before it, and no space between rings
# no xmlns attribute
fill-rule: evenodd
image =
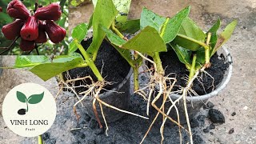
<svg viewBox="0 0 256 144"><path fill-rule="evenodd" d="M217 95L221 90L223 90L226 85L228 84L228 82L230 82L230 78L232 75L232 57L230 52L226 49L225 46L222 46L222 50L224 50L224 53L226 54L226 62L229 64L228 70L226 71L226 77L224 77L222 79L222 82L220 83L220 85L217 87L217 89L215 89L214 91L210 92L209 94L204 94L204 95L199 95L199 96L192 96L192 97L186 97L186 100L190 101L190 102L198 102L198 101L204 101L204 100L208 100L209 98L214 97L215 95ZM179 94L170 94L171 98L175 98L178 99L180 98L182 95Z"/></svg>

